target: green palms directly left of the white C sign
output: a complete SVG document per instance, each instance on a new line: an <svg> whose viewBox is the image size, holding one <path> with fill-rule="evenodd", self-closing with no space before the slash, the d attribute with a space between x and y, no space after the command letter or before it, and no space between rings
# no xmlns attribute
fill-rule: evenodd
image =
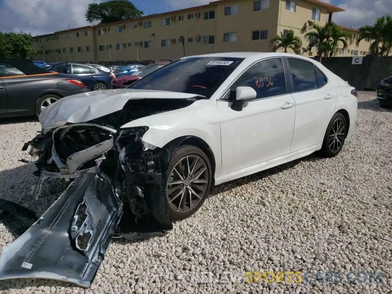
<svg viewBox="0 0 392 294"><path fill-rule="evenodd" d="M307 51L311 51L312 47L316 47L317 56L334 56L339 49L340 43L343 49L348 47L348 44L354 42L354 37L351 34L345 33L334 22L327 23L323 26L312 23L309 26L309 31L305 34L305 39L309 41Z"/></svg>

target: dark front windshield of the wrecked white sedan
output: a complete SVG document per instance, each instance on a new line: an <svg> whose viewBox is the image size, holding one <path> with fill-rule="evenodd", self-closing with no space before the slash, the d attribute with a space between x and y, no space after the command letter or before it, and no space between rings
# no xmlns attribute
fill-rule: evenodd
<svg viewBox="0 0 392 294"><path fill-rule="evenodd" d="M243 60L231 57L183 58L148 74L129 88L181 92L211 98Z"/></svg>

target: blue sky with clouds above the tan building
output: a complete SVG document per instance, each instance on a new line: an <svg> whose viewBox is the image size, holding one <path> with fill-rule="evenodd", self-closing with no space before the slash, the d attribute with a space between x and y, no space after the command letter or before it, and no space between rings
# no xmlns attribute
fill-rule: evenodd
<svg viewBox="0 0 392 294"><path fill-rule="evenodd" d="M89 25L85 11L91 2L105 0L0 0L0 31L48 34ZM212 1L212 0L210 0ZM240 1L240 0L239 0ZM276 1L276 0L271 0ZM387 11L392 12L392 0L323 0L346 9L334 13L332 20L339 25L358 28L371 25ZM132 0L145 15L207 4L208 0Z"/></svg>

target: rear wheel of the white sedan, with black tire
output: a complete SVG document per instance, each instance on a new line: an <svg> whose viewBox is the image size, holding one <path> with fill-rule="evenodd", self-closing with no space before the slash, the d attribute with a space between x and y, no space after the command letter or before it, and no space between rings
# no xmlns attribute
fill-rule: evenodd
<svg viewBox="0 0 392 294"><path fill-rule="evenodd" d="M343 123L343 125L341 125ZM340 132L336 130L339 128ZM328 123L320 153L326 158L331 158L340 153L347 136L347 121L343 114L335 113ZM340 144L340 145L339 145ZM330 146L331 145L331 146Z"/></svg>

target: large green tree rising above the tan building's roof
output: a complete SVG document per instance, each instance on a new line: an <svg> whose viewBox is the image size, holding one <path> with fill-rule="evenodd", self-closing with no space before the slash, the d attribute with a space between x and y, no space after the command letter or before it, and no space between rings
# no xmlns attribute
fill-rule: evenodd
<svg viewBox="0 0 392 294"><path fill-rule="evenodd" d="M127 0L90 3L85 13L86 20L94 24L108 24L140 16L143 16L143 11Z"/></svg>

